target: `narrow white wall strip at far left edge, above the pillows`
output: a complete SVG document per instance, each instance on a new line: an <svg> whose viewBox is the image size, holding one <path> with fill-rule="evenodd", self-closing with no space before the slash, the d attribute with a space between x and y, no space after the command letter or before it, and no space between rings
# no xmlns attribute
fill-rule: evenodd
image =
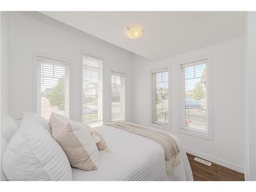
<svg viewBox="0 0 256 192"><path fill-rule="evenodd" d="M9 113L9 12L1 11L1 115Z"/></svg>

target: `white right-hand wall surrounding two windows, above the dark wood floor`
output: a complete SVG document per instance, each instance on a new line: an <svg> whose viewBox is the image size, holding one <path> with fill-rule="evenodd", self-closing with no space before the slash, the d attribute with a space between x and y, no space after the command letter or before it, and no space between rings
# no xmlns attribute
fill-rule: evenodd
<svg viewBox="0 0 256 192"><path fill-rule="evenodd" d="M134 60L133 121L150 125L150 71L169 66L172 133L177 135L189 153L243 172L244 157L244 55L243 38L199 49L159 62L143 58ZM178 132L179 80L177 63L210 54L212 57L213 140Z"/></svg>

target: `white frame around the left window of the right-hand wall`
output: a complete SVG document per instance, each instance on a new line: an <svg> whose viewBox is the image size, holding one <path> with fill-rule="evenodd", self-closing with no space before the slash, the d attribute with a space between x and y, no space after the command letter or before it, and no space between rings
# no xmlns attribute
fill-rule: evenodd
<svg viewBox="0 0 256 192"><path fill-rule="evenodd" d="M161 125L153 122L153 110L154 110L154 100L152 99L152 92L153 92L153 87L152 87L152 74L155 72L160 72L160 71L168 71L168 124L166 125ZM158 68L154 68L150 70L150 125L154 126L156 128L165 130L165 131L171 131L171 110L170 110L170 103L171 103L171 96L170 96L170 70L169 66L161 66Z"/></svg>

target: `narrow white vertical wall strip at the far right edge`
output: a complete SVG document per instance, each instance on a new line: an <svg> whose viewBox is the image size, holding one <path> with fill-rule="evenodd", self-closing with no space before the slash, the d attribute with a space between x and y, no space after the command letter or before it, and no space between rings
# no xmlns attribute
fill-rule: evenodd
<svg viewBox="0 0 256 192"><path fill-rule="evenodd" d="M245 19L245 178L256 180L256 13Z"/></svg>

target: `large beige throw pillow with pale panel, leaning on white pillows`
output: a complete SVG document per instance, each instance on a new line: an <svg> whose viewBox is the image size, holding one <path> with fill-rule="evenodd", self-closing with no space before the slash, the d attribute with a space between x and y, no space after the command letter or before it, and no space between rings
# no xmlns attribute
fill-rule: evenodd
<svg viewBox="0 0 256 192"><path fill-rule="evenodd" d="M52 137L65 151L70 164L82 170L97 170L99 151L86 125L52 113L49 124Z"/></svg>

